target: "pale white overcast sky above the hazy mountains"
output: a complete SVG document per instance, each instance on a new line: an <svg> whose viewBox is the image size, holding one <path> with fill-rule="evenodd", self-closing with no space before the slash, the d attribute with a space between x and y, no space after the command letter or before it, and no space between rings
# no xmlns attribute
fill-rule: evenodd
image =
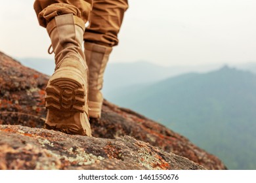
<svg viewBox="0 0 256 183"><path fill-rule="evenodd" d="M112 63L158 65L256 62L255 0L131 0ZM0 51L14 58L53 58L33 0L1 1Z"/></svg>

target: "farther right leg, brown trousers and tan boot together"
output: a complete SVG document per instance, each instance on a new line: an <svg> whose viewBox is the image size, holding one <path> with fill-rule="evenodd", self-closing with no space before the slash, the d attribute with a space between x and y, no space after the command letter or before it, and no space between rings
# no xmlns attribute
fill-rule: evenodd
<svg viewBox="0 0 256 183"><path fill-rule="evenodd" d="M112 46L128 8L127 0L95 0L89 16L85 39L85 57L89 67L89 116L100 118L103 75Z"/></svg>

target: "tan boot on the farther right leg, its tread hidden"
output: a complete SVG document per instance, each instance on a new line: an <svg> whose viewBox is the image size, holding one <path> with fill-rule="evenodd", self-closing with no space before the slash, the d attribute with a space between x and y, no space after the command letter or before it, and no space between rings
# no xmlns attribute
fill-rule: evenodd
<svg viewBox="0 0 256 183"><path fill-rule="evenodd" d="M85 58L89 67L89 116L100 118L103 96L103 75L112 47L85 42Z"/></svg>

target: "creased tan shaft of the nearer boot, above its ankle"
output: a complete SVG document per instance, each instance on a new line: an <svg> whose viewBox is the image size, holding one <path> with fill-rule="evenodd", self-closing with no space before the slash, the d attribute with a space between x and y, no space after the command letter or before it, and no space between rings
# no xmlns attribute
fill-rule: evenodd
<svg viewBox="0 0 256 183"><path fill-rule="evenodd" d="M60 67L64 58L85 60L82 49L84 31L83 20L72 14L56 16L49 22L47 32L55 54L56 69Z"/></svg>

